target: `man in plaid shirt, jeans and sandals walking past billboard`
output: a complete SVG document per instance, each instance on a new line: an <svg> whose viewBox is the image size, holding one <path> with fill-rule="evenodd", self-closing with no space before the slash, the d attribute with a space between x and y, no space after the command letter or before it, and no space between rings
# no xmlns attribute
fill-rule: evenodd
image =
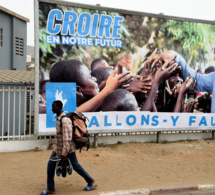
<svg viewBox="0 0 215 195"><path fill-rule="evenodd" d="M56 136L57 144L52 152L47 167L47 190L43 191L41 195L55 194L55 166L56 161L52 161L53 157L61 158L62 160L69 159L73 166L73 169L82 176L87 182L86 188L84 190L90 191L93 190L97 185L94 184L94 179L82 168L78 163L76 154L75 154L75 144L72 141L73 129L72 122L69 118L62 118L62 126L60 125L60 119L65 113L62 111L63 103L59 100L52 103L52 111L56 114Z"/></svg>

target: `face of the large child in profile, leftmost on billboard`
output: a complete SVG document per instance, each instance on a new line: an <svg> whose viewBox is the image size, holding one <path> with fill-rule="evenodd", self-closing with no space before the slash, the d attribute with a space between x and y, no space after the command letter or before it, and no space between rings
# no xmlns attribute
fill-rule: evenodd
<svg viewBox="0 0 215 195"><path fill-rule="evenodd" d="M80 68L83 86L79 86L79 91L84 97L92 98L99 93L96 78L91 76L87 66L81 66Z"/></svg>

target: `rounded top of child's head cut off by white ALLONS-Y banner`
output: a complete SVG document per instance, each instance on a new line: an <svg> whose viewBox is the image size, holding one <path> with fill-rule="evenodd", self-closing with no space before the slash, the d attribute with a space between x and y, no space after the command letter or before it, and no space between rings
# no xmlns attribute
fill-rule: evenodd
<svg viewBox="0 0 215 195"><path fill-rule="evenodd" d="M117 89L104 99L102 111L138 111L137 101L131 92Z"/></svg>

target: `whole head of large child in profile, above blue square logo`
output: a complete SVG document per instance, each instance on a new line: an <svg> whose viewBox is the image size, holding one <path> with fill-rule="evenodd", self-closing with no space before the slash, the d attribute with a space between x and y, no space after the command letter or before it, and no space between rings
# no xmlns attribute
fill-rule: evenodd
<svg viewBox="0 0 215 195"><path fill-rule="evenodd" d="M75 82L77 91L87 98L99 93L96 79L91 76L89 69L79 60L63 60L55 63L50 70L51 82Z"/></svg>

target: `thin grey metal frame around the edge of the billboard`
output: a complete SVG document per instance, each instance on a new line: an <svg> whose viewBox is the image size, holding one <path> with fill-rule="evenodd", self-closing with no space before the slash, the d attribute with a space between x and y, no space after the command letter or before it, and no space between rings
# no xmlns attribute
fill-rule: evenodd
<svg viewBox="0 0 215 195"><path fill-rule="evenodd" d="M202 20L202 19L194 19L194 18L186 18L186 17L177 17L177 16L170 16L165 15L163 13L160 14L153 14L148 12L140 12L134 10L125 10L125 9L118 9L118 8L111 8L111 7L104 7L100 6L100 4L96 5L89 5L89 4L82 4L76 2L68 2L68 1L61 1L61 0L34 0L34 53L35 53L35 118L34 118L34 136L41 135L39 133L39 2L50 3L50 4L61 4L66 6L73 6L79 8L87 8L87 9L95 9L100 11L108 11L108 12L116 12L121 14L130 14L130 15L139 15L139 16L148 16L148 17L155 17L155 18L162 18L162 19L170 19L170 20L178 20L178 21L187 21L187 22L197 22L197 23L204 23L204 24L211 24L215 25L215 21L210 20ZM135 132L140 132L140 129L135 129ZM161 131L162 129L157 129L157 131ZM179 131L181 129L175 128L174 130L165 128L165 131ZM183 128L184 131L196 131L196 130L215 130L215 127L201 127L192 129L190 127ZM101 130L102 132L104 130ZM128 132L127 130L120 130L120 132ZM147 130L149 132L150 130ZM153 130L154 132L154 130ZM105 132L103 132L105 133ZM55 133L42 133L42 135L54 135Z"/></svg>

